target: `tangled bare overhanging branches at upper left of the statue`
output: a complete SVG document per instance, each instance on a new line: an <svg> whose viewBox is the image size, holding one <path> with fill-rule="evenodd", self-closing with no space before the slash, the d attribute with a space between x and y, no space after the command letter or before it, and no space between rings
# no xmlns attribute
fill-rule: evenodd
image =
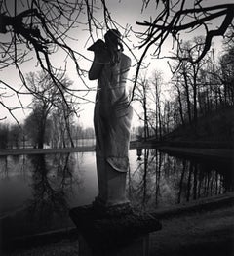
<svg viewBox="0 0 234 256"><path fill-rule="evenodd" d="M65 103L64 92L86 100L83 96L77 95L77 92L90 90L84 80L86 70L79 64L80 60L86 58L71 47L72 41L78 42L77 38L72 37L72 31L83 26L87 28L87 34L90 33L93 37L96 30L108 25L111 19L106 8L103 9L105 23L99 22L94 16L94 12L103 6L105 7L105 1L96 3L87 0L0 0L0 34L3 38L0 41L0 69L15 66L23 85L17 89L15 85L0 80L0 97L4 97L5 91L8 90L17 95L20 107L27 107L23 105L20 96L25 94L25 88L30 92L30 87L24 77L21 64L32 62L33 59L34 64L51 77ZM64 56L62 67L55 64L54 57L58 53ZM85 89L63 87L58 74L59 71L67 71L68 62L76 68L77 77L86 86ZM9 107L3 101L0 101L0 104L17 120L13 112L16 107Z"/></svg>

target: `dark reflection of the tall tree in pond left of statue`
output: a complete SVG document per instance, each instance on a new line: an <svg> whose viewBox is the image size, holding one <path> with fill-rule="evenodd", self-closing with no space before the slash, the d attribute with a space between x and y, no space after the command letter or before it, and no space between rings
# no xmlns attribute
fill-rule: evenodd
<svg viewBox="0 0 234 256"><path fill-rule="evenodd" d="M69 200L73 187L77 190L83 182L79 159L73 156L27 155L18 162L1 158L5 178L0 180L0 226L5 239L72 225Z"/></svg>

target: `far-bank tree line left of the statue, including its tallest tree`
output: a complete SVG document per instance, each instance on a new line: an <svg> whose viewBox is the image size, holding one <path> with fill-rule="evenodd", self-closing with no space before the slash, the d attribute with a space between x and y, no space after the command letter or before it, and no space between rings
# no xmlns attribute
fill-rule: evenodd
<svg viewBox="0 0 234 256"><path fill-rule="evenodd" d="M74 122L79 105L65 92L71 80L60 74L63 87L58 88L44 71L30 72L26 79L33 98L30 113L22 124L0 123L0 149L67 148L77 146L78 139L94 138L92 128Z"/></svg>

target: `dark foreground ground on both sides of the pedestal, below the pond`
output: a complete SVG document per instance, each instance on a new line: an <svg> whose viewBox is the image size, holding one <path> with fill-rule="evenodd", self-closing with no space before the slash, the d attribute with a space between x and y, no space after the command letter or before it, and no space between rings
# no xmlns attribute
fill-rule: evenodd
<svg viewBox="0 0 234 256"><path fill-rule="evenodd" d="M160 256L234 256L234 194L205 202L205 207L190 204L155 213L163 229L150 234L149 255ZM223 199L227 199L225 203ZM198 207L197 207L198 206ZM59 242L31 248L12 250L1 255L79 255L76 239L64 238ZM116 254L121 255L121 254ZM129 254L135 255L135 254Z"/></svg>

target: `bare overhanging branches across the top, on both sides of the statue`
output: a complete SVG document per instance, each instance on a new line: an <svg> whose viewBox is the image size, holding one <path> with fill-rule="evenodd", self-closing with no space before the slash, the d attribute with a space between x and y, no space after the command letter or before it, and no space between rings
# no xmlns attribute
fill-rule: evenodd
<svg viewBox="0 0 234 256"><path fill-rule="evenodd" d="M152 54L158 57L170 35L179 42L179 33L182 31L204 27L207 33L205 47L197 59L193 60L193 62L199 62L209 51L213 38L224 35L233 20L234 4L205 6L206 1L203 0L177 0L176 2L171 0L142 0L141 11L148 8L150 2L156 3L155 18L150 18L149 21L137 21L139 31L135 33L141 40L139 46L143 49L141 57L137 59L133 49L127 45L137 60L132 99L134 98L141 64L149 49L153 48ZM124 8L124 3L122 4ZM81 68L79 61L86 58L80 51L74 50L71 46L70 42L73 39L71 38L71 31L82 26L87 29L90 38L95 40L94 35L97 31L102 31L103 28L120 27L116 21L112 20L109 5L109 2L105 0L0 0L0 34L5 35L0 42L2 58L0 69L15 66L23 88L27 88L21 64L34 58L35 64L38 64L42 70L51 76L55 86L60 90L61 97L63 97L62 89L70 94L83 91L84 89L80 88L76 90L63 88L57 76L58 69L66 71L67 62L72 61L77 70L78 78L85 84L86 70ZM99 12L102 12L101 19L98 19ZM215 28L210 26L211 21L219 18L223 18L219 25ZM142 27L145 27L143 32ZM53 57L58 52L64 56L65 64L62 68L53 62ZM25 107L20 100L20 95L24 94L23 90L16 89L14 85L1 80L1 97L4 97L5 88L17 95L20 107ZM85 90L89 91L90 88L87 86ZM81 96L78 95L78 97ZM83 99L83 97L81 98ZM64 98L63 100L65 101ZM14 107L6 106L3 101L0 104L2 107L8 108L14 116Z"/></svg>

